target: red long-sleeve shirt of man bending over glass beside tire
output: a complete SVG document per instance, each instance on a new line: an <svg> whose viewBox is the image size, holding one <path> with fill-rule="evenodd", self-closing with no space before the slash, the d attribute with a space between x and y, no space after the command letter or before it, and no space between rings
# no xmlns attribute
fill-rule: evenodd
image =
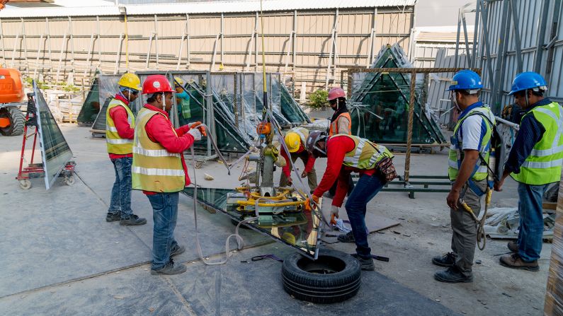
<svg viewBox="0 0 563 316"><path fill-rule="evenodd" d="M360 172L360 175L373 175L375 169L358 169L343 166L344 156L354 150L356 143L349 137L331 137L326 141L326 170L322 177L321 183L314 190L313 195L321 197L324 192L334 185L338 179L336 186L336 194L332 199L332 205L342 206L346 192L348 192L348 175L350 172Z"/></svg>

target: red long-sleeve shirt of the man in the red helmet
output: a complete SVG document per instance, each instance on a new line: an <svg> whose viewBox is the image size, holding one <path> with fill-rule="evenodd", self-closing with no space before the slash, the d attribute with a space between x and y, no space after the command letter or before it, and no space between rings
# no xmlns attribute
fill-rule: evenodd
<svg viewBox="0 0 563 316"><path fill-rule="evenodd" d="M171 153L183 153L183 151L192 146L195 139L193 139L193 136L188 133L190 130L188 125L177 128L176 134L178 134L178 136L176 136L176 134L174 134L172 122L170 122L168 117L168 113L149 104L144 105L144 107L166 115L166 117L163 117L162 115L153 115L144 126L145 131L147 131L147 136L149 136L151 141L161 144ZM186 174L186 186L188 186L191 183L188 175L188 167L186 167L186 160L184 160L183 155L180 155L180 157L182 160L183 172ZM157 192L149 191L143 191L143 193L147 195L157 194Z"/></svg>

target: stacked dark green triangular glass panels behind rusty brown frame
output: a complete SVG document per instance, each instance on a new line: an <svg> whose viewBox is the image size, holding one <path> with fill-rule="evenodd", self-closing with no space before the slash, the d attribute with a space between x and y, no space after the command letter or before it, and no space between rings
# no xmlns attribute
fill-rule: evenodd
<svg viewBox="0 0 563 316"><path fill-rule="evenodd" d="M411 68L398 45L380 51L371 68ZM411 80L415 83L413 144L444 144L436 121L421 106L423 76L400 73L353 73L352 134L379 144L406 144ZM358 84L356 84L358 83Z"/></svg>

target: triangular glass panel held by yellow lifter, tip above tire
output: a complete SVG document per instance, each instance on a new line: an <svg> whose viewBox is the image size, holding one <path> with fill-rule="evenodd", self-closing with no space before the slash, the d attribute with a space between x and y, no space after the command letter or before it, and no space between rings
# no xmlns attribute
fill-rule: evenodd
<svg viewBox="0 0 563 316"><path fill-rule="evenodd" d="M193 198L193 192L193 187L186 187L182 193ZM220 211L237 222L254 216L254 212L241 213L234 206L227 206L228 193L237 192L233 189L198 188L198 201L204 208ZM259 217L257 221L249 222L252 229L300 250L308 257L314 257L318 253L321 221L317 211L265 212L260 213Z"/></svg>

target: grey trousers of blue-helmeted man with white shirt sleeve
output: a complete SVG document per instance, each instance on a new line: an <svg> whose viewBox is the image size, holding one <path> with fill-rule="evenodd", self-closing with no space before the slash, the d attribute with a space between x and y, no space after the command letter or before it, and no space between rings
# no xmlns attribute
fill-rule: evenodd
<svg viewBox="0 0 563 316"><path fill-rule="evenodd" d="M487 189L487 180L474 182L479 189L484 191ZM465 186L461 192L465 191ZM471 189L465 191L462 197L463 201L469 206L475 216L479 216L481 212L481 198L477 196ZM452 221L452 250L455 256L454 266L463 276L471 276L473 257L475 254L475 245L477 244L477 223L473 217L467 212L461 204L457 204L458 209L450 209L450 218Z"/></svg>

